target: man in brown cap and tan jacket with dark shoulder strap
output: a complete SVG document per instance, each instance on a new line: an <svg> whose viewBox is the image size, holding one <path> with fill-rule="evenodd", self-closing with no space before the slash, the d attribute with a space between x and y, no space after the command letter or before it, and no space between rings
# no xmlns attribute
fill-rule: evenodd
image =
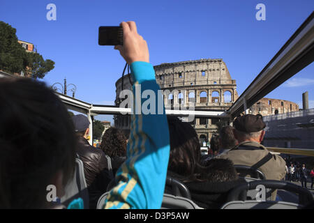
<svg viewBox="0 0 314 223"><path fill-rule="evenodd" d="M260 114L240 116L234 121L233 126L234 137L239 144L219 157L228 158L234 164L260 169L267 180L285 178L285 160L279 155L272 155L260 144L266 127L262 116Z"/></svg>

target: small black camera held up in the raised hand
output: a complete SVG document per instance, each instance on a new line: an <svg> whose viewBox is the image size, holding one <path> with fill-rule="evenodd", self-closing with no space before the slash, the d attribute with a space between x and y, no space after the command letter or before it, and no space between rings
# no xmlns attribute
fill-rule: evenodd
<svg viewBox="0 0 314 223"><path fill-rule="evenodd" d="M98 44L101 46L123 45L124 32L121 26L100 26Z"/></svg>

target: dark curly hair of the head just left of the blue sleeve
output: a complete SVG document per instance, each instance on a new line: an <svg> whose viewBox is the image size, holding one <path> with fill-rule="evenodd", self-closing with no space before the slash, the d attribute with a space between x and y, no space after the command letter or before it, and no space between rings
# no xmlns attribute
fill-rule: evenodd
<svg viewBox="0 0 314 223"><path fill-rule="evenodd" d="M123 131L110 127L103 134L100 149L110 157L125 157L126 140L127 138Z"/></svg>

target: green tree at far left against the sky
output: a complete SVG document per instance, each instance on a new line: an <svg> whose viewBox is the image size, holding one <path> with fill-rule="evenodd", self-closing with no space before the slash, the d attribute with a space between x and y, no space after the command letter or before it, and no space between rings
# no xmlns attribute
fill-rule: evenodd
<svg viewBox="0 0 314 223"><path fill-rule="evenodd" d="M35 79L45 77L54 68L54 61L44 60L37 52L26 52L17 40L16 29L0 21L0 70L23 71Z"/></svg>

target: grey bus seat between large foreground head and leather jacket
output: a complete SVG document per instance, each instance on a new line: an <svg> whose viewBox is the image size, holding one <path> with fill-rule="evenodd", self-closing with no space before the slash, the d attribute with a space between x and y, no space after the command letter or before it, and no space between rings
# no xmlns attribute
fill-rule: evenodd
<svg viewBox="0 0 314 223"><path fill-rule="evenodd" d="M73 201L73 199L82 198L84 201L84 209L89 208L89 192L84 174L84 164L82 160L75 158L75 173L73 179L65 187L65 194L61 197L61 203L64 206Z"/></svg>

